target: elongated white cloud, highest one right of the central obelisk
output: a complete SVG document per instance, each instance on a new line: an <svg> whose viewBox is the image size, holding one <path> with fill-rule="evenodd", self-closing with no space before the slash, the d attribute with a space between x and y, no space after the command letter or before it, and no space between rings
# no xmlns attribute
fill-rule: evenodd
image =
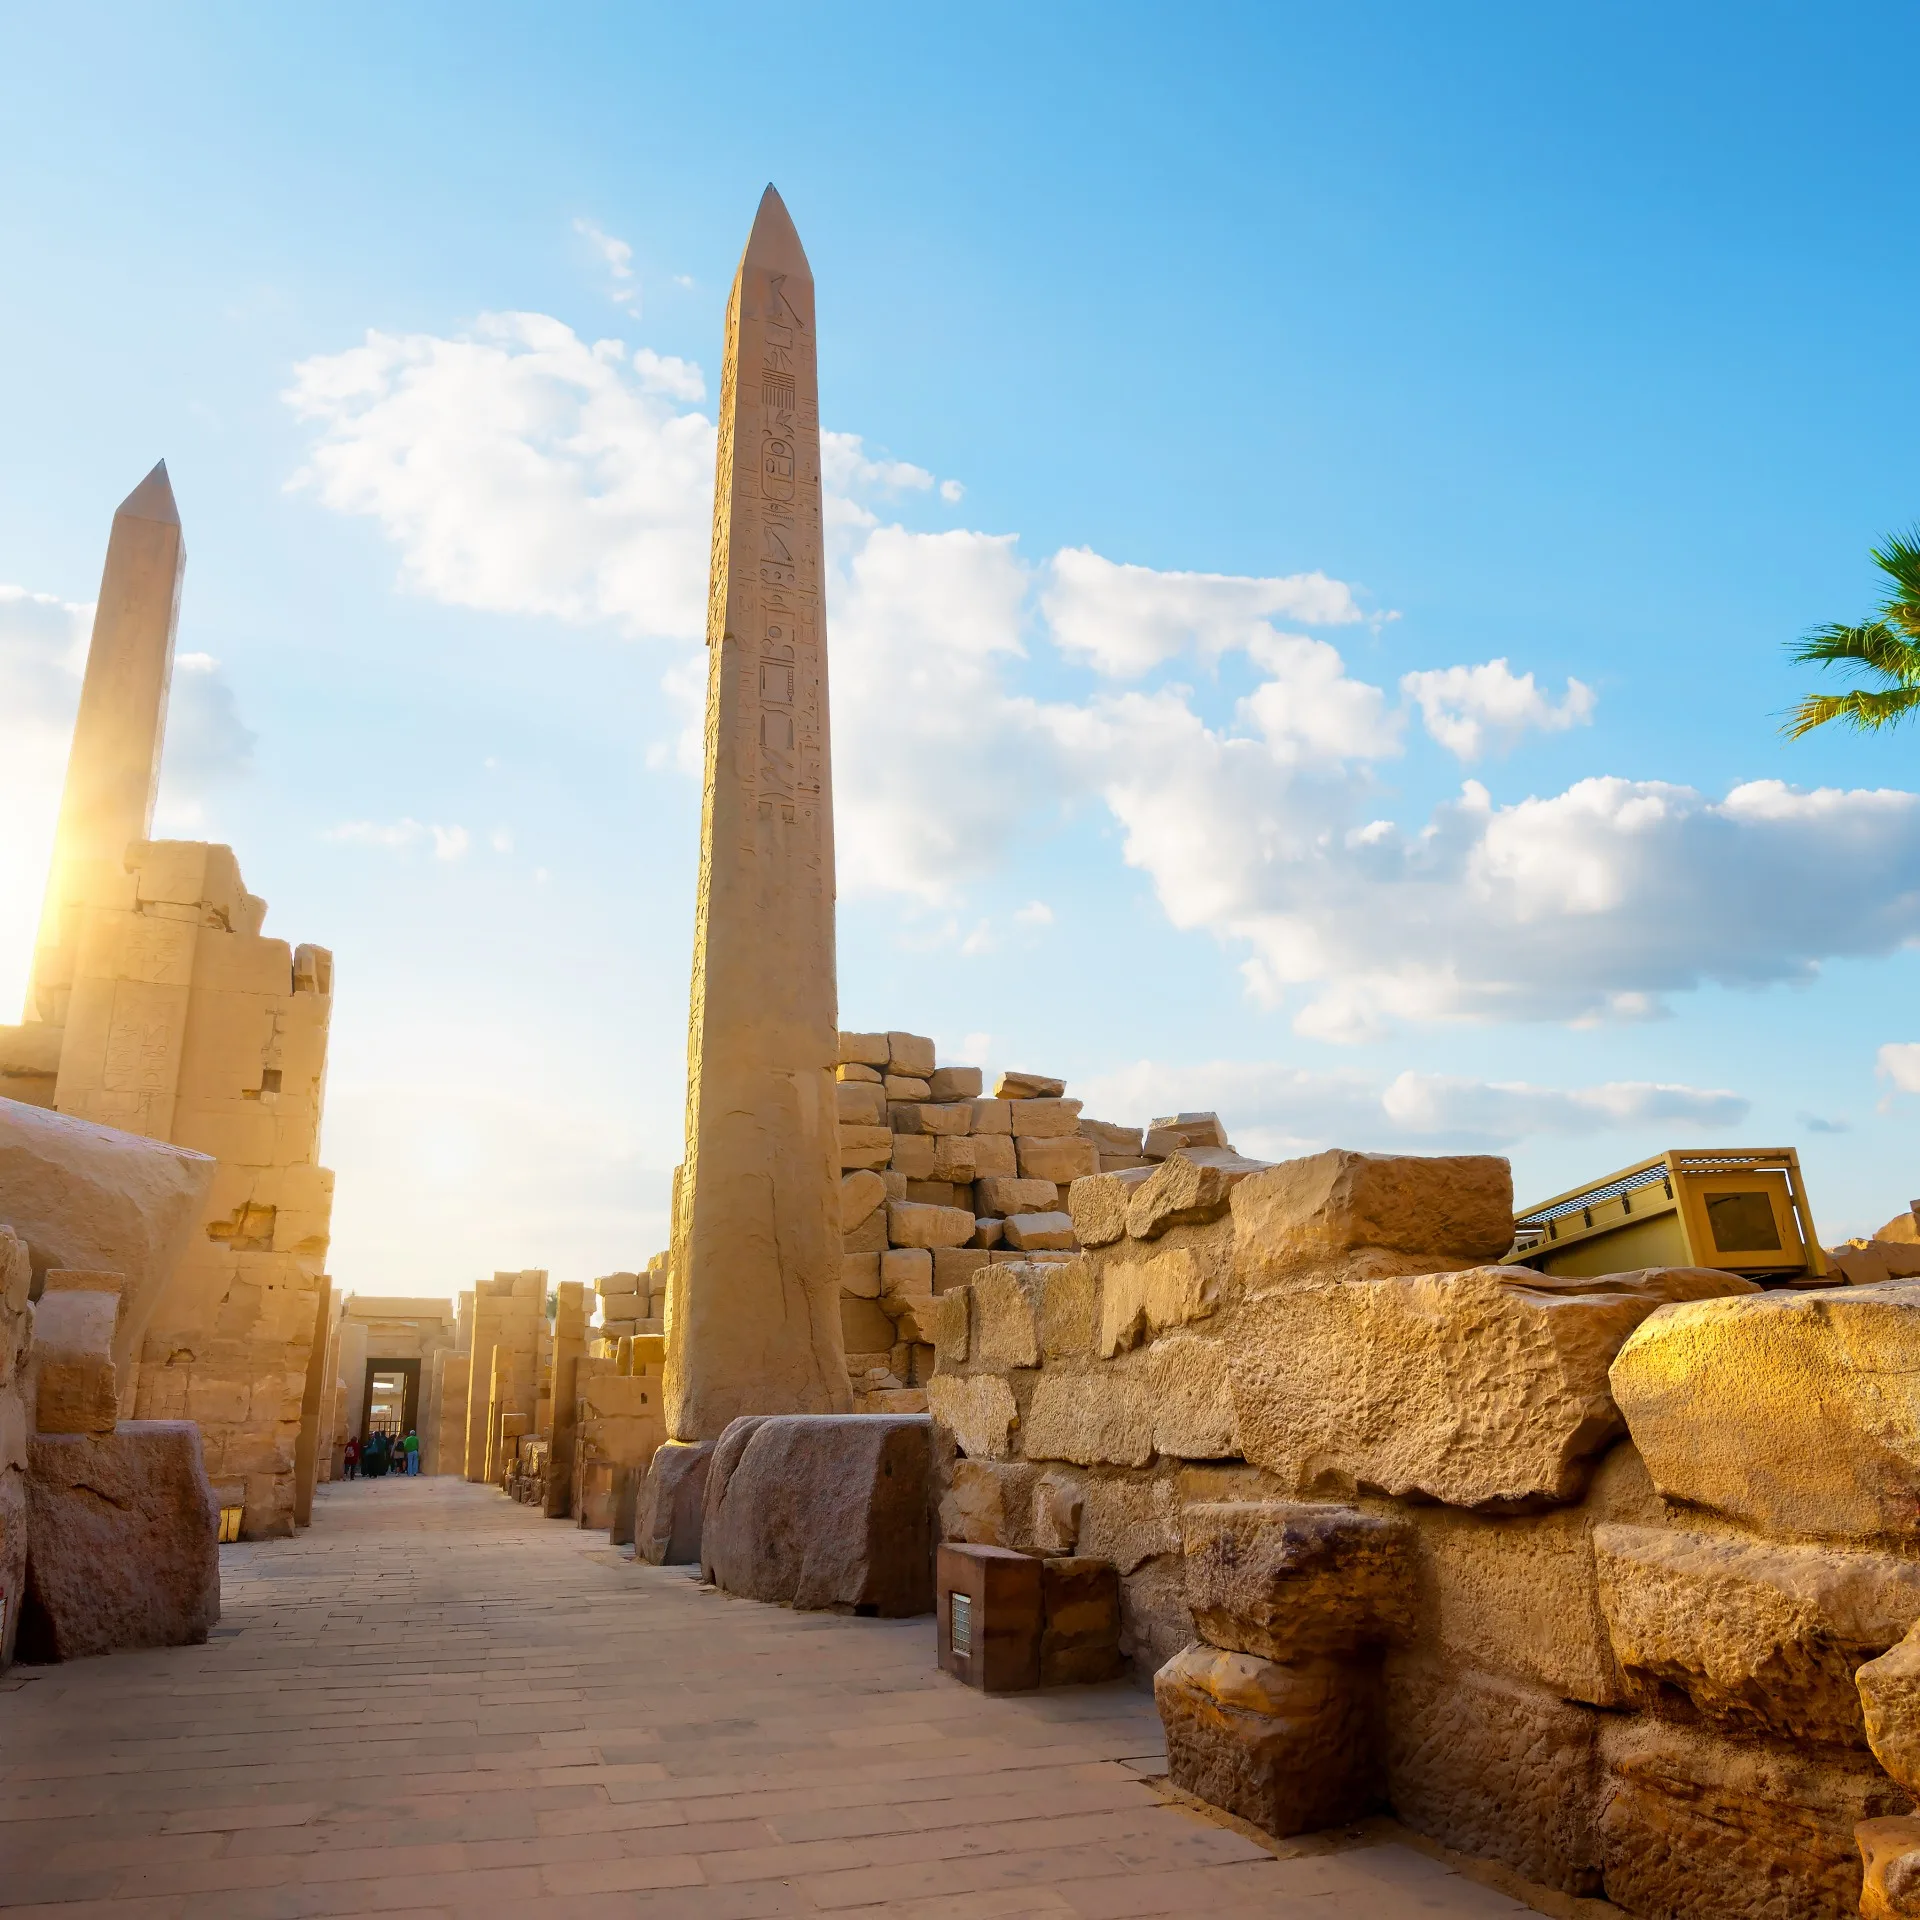
<svg viewBox="0 0 1920 1920"><path fill-rule="evenodd" d="M1041 605L1056 645L1116 680L1177 655L1202 660L1273 636L1269 618L1306 626L1361 620L1354 589L1325 574L1252 580L1233 574L1156 572L1102 559L1087 547L1054 555Z"/></svg>

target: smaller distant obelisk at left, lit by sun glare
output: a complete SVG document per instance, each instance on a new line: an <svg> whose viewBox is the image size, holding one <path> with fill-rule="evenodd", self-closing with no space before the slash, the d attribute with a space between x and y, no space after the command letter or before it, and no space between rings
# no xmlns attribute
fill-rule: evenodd
<svg viewBox="0 0 1920 1920"><path fill-rule="evenodd" d="M108 904L127 885L127 847L152 831L184 570L180 515L161 461L119 503L108 536L27 1020L65 1025L81 908Z"/></svg>

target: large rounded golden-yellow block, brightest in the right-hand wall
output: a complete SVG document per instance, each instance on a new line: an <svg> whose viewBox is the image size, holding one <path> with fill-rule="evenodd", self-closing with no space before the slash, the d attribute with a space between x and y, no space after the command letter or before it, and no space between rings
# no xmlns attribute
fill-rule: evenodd
<svg viewBox="0 0 1920 1920"><path fill-rule="evenodd" d="M1613 1363L1653 1484L1761 1532L1920 1534L1920 1281L1695 1300Z"/></svg>

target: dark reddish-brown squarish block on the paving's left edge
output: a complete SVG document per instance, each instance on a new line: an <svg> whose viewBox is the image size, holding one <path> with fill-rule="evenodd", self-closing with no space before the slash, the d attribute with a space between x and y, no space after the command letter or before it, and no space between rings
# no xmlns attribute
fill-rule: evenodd
<svg viewBox="0 0 1920 1920"><path fill-rule="evenodd" d="M190 1421L27 1444L19 1655L198 1645L221 1617L219 1509Z"/></svg>

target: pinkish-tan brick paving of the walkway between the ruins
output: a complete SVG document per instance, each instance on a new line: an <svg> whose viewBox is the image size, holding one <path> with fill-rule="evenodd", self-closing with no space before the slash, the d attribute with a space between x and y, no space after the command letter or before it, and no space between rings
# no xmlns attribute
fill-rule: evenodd
<svg viewBox="0 0 1920 1920"><path fill-rule="evenodd" d="M204 1647L0 1678L13 1920L1528 1910L1167 1805L1137 1688L983 1699L929 1620L728 1599L492 1488L326 1486L223 1574Z"/></svg>

